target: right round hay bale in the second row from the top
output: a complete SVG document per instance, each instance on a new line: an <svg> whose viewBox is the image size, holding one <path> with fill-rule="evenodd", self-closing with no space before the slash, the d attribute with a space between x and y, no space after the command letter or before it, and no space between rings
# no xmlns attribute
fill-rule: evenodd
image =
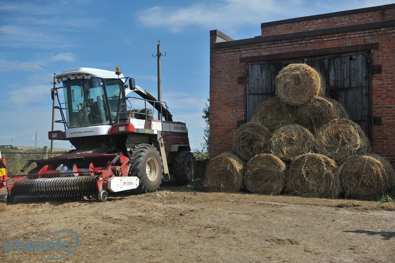
<svg viewBox="0 0 395 263"><path fill-rule="evenodd" d="M296 123L311 132L336 119L333 104L324 97L316 97L296 110Z"/></svg>

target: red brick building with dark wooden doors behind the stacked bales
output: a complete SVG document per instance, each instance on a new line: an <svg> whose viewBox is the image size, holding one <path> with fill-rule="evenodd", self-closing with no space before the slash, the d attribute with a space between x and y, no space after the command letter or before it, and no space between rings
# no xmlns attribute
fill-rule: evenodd
<svg viewBox="0 0 395 263"><path fill-rule="evenodd" d="M304 62L395 165L395 4L262 23L261 32L210 31L211 156L232 150L237 127L275 94L278 71Z"/></svg>

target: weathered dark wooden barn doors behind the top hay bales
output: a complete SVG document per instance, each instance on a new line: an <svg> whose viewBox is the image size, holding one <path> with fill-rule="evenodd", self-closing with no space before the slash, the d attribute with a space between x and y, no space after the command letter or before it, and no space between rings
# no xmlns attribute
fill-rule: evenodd
<svg viewBox="0 0 395 263"><path fill-rule="evenodd" d="M276 93L277 73L290 63L306 63L322 75L326 96L340 101L350 119L370 135L368 52L321 56L307 59L270 61L248 66L246 85L246 118L250 121L255 109Z"/></svg>

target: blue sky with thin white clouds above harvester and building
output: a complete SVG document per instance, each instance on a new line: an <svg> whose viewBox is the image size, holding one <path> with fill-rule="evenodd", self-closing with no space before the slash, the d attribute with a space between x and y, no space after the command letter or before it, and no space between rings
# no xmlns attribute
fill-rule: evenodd
<svg viewBox="0 0 395 263"><path fill-rule="evenodd" d="M394 0L0 0L0 144L34 146L37 132L38 146L50 145L51 82L64 69L118 66L156 95L152 54L160 40L162 99L201 149L210 30L247 39L260 35L263 22L388 3Z"/></svg>

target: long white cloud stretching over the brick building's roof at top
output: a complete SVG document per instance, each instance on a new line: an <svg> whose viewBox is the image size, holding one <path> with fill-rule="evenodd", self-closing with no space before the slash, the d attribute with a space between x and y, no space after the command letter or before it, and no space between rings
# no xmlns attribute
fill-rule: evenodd
<svg viewBox="0 0 395 263"><path fill-rule="evenodd" d="M181 32L197 26L202 29L219 28L229 32L246 26L278 19L322 14L347 9L391 3L391 0L308 1L308 0L219 0L198 1L185 7L154 6L144 10L138 19L145 26L161 27Z"/></svg>

